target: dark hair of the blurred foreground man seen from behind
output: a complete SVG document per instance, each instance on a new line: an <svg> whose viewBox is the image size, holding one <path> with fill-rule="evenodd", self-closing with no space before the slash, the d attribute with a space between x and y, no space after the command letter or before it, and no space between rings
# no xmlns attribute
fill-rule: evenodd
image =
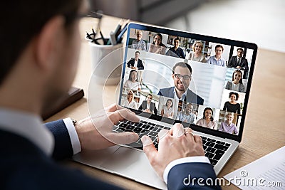
<svg viewBox="0 0 285 190"><path fill-rule="evenodd" d="M82 1L79 0L22 0L2 3L1 6L6 9L0 12L0 84L11 72L31 39L40 33L53 16L64 16L65 26L68 28L76 19L81 4Z"/></svg>

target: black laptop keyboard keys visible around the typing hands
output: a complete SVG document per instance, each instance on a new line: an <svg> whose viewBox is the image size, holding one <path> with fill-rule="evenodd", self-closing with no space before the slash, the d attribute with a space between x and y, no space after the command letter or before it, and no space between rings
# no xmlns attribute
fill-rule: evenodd
<svg viewBox="0 0 285 190"><path fill-rule="evenodd" d="M140 138L143 135L147 135L148 137L150 137L150 139L152 139L156 149L158 149L157 134L162 129L170 130L170 127L157 125L155 123L143 120L141 120L140 122L131 122L128 120L123 120L118 122L118 124L114 125L113 127L114 132L136 132L138 133ZM143 146L140 138L137 142L133 142L127 145L130 147L142 149ZM221 159L222 155L224 155L224 152L227 151L231 144L211 139L209 137L201 136L201 138L203 142L205 156L209 158L209 162L212 164L212 166L216 165L219 159Z"/></svg>

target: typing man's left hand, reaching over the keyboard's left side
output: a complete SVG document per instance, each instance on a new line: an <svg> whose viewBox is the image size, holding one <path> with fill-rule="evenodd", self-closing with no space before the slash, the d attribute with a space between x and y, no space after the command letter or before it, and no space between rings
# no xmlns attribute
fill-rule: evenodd
<svg viewBox="0 0 285 190"><path fill-rule="evenodd" d="M138 140L135 132L113 132L113 126L120 120L139 122L140 119L124 107L111 105L96 112L95 115L78 121L76 132L81 142L81 149L104 149L115 144L128 144Z"/></svg>

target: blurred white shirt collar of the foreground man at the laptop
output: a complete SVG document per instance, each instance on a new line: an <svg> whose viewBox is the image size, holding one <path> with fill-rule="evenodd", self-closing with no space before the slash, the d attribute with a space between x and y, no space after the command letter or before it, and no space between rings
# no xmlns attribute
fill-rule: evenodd
<svg viewBox="0 0 285 190"><path fill-rule="evenodd" d="M0 130L25 137L47 155L53 152L53 134L43 126L38 115L0 107Z"/></svg>

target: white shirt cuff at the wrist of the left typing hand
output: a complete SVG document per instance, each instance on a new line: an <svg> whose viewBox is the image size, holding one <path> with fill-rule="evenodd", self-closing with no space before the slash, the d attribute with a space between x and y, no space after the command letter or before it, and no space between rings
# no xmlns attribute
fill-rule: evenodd
<svg viewBox="0 0 285 190"><path fill-rule="evenodd" d="M69 137L71 137L71 145L73 149L73 154L81 152L81 144L76 132L76 127L74 127L73 122L70 117L63 119L64 124L68 130Z"/></svg>

